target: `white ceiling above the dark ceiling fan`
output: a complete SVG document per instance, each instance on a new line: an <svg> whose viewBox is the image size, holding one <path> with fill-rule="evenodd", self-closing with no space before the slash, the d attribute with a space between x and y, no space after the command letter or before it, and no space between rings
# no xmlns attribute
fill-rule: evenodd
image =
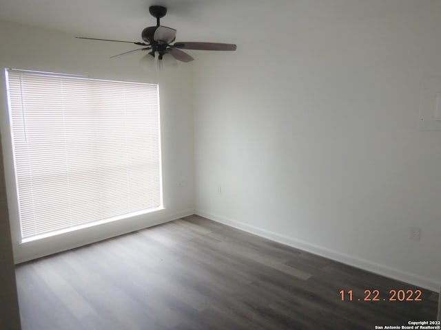
<svg viewBox="0 0 441 330"><path fill-rule="evenodd" d="M156 23L148 7L165 5L161 24L176 28L178 41L239 45L249 36L263 43L268 36L289 41L292 32L415 10L427 1L432 0L0 0L0 20L141 41L141 30Z"/></svg>

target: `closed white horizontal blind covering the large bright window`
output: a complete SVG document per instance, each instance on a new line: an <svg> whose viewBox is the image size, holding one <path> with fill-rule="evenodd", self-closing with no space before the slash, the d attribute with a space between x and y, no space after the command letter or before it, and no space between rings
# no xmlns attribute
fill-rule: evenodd
<svg viewBox="0 0 441 330"><path fill-rule="evenodd" d="M22 241L162 208L158 85L8 70Z"/></svg>

